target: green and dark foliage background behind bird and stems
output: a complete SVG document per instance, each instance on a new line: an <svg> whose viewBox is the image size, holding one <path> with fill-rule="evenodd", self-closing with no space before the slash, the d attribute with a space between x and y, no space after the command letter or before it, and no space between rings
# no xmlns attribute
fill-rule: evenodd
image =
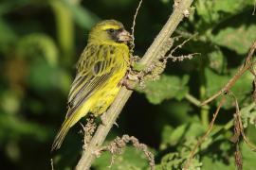
<svg viewBox="0 0 256 170"><path fill-rule="evenodd" d="M134 135L155 153L157 169L180 169L206 128L219 100L202 109L195 104L217 92L233 76L256 38L254 0L195 0L194 10L178 26L176 56L164 75L134 93L107 142ZM74 169L82 153L82 133L72 127L61 149L50 154L64 121L66 97L75 64L91 26L116 19L130 30L137 0L1 0L0 2L0 164L5 169ZM173 11L172 0L144 0L137 16L135 55L142 56ZM247 136L256 143L253 76L247 73L232 88L242 109ZM217 118L214 135L200 148L191 169L234 169L231 97ZM84 123L84 119L81 121ZM256 154L241 144L244 169L256 166ZM247 153L247 154L245 154ZM107 169L110 155L94 169ZM127 146L111 169L147 169L143 154Z"/></svg>

